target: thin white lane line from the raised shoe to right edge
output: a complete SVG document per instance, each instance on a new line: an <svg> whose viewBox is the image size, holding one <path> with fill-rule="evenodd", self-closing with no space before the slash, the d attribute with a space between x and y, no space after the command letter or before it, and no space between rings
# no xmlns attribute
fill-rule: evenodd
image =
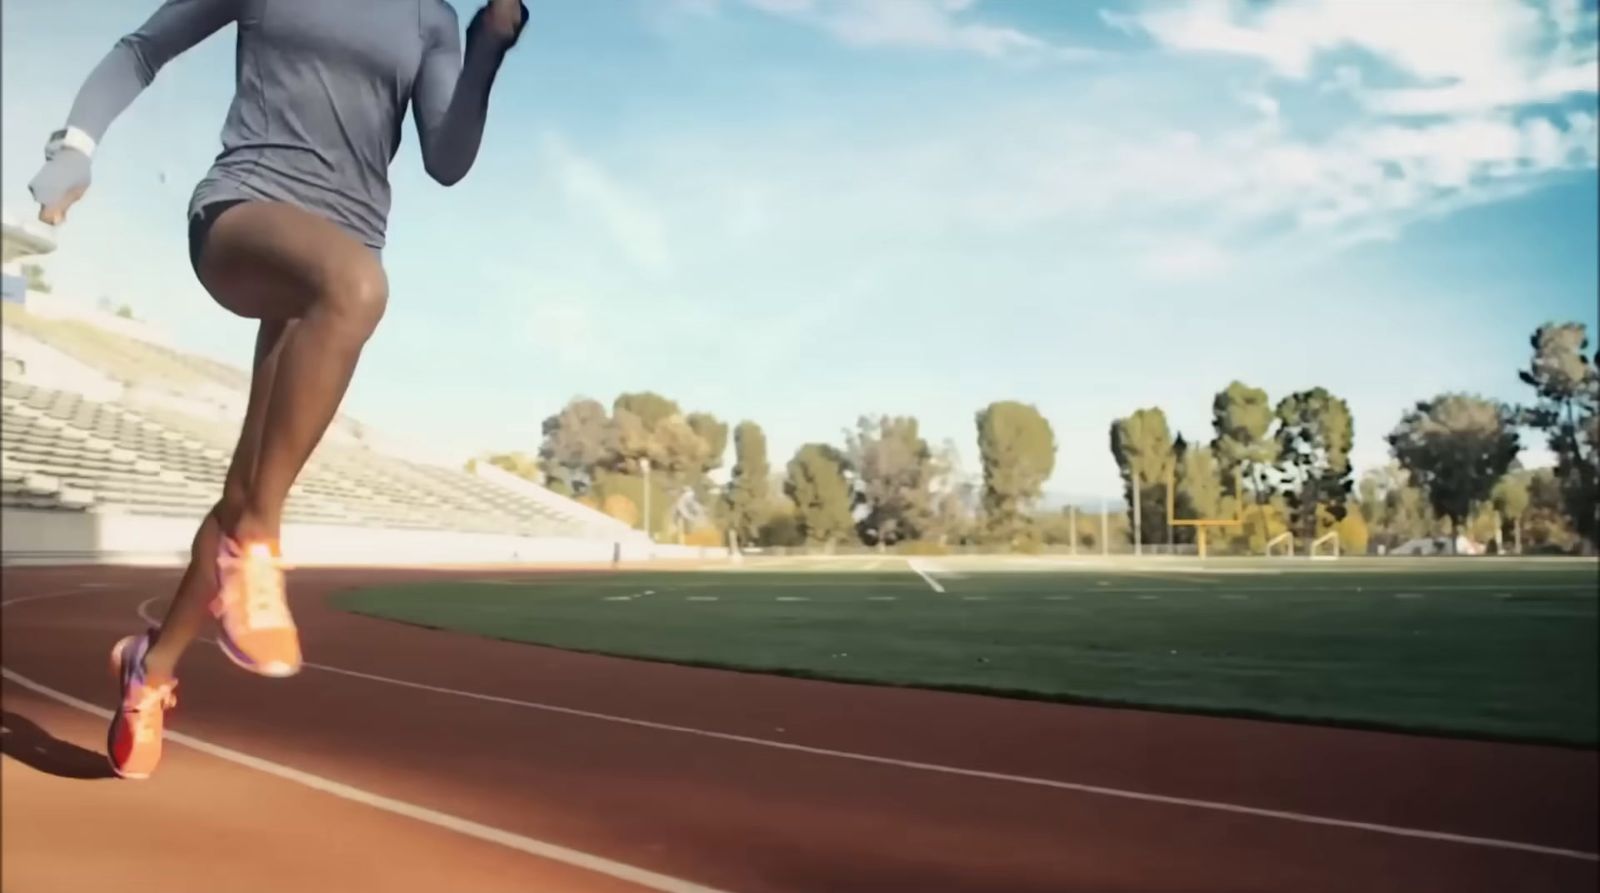
<svg viewBox="0 0 1600 893"><path fill-rule="evenodd" d="M158 602L160 599L147 599L139 605L139 616L146 618L146 608ZM1330 827L1347 827L1352 831L1370 831L1374 834L1389 834L1394 837L1414 837L1421 840L1440 840L1446 843L1466 843L1469 847L1486 847L1493 850L1518 850L1523 853L1539 853L1544 856L1562 856L1566 859L1582 859L1589 863L1600 863L1600 853L1590 853L1584 850L1565 850L1562 847L1544 847L1539 843L1523 843L1520 840L1499 840L1494 837L1472 837L1467 834L1450 834L1446 831L1427 831L1419 827L1402 827L1394 824L1376 824L1366 821L1350 821L1338 819L1328 816L1315 816L1309 813L1294 813L1288 810L1267 810L1261 807L1245 807L1240 803L1224 803L1219 800L1197 800L1192 797L1168 797L1165 794L1146 794L1142 791L1126 791L1122 787L1102 787L1098 784L1080 784L1075 781L1058 781L1053 778L1034 778L1026 775L1010 775L1000 771L971 770L960 767L947 767L941 763L923 763L917 760L898 760L894 757L875 757L872 754L856 754L851 751L834 751L829 747L810 747L806 744L790 744L789 741L773 741L770 738L752 738L749 735L733 735L730 731L710 731L706 728L694 728L688 725L672 725L664 722L651 722L634 717L619 717L613 714L600 714L595 711L579 711L576 707L562 707L557 704L542 704L539 701L518 701L517 698L502 698L499 695L483 695L482 691L462 691L458 688L445 688L440 685L426 685L421 682L406 682L403 679L392 679L387 675L376 675L370 672L349 671L342 667L333 667L326 664L314 664L306 661L304 667L318 669L323 672L331 672L338 675L349 675L352 679L365 679L368 682L382 682L386 685L398 685L402 688L411 688L416 691L432 691L435 695L454 695L456 698L467 698L472 701L483 701L488 704L504 704L509 707L523 707L530 711L541 711L547 714L560 714L568 717L582 717L598 722L610 722L616 725L630 725L635 728L653 728L656 731L674 731L678 735L693 735L696 738L710 738L715 741L733 741L736 744L752 744L757 747L771 747L774 751L790 751L797 754L811 754L816 757L834 757L838 760L854 760L861 763L875 763L885 767L898 767L904 770L915 771L931 771L939 775L954 775L962 778L982 778L987 781L1008 781L1011 784L1027 784L1032 787L1050 787L1054 791L1074 791L1078 794L1096 794L1101 797L1118 797L1123 800L1141 800L1146 803L1165 803L1170 807L1192 807L1197 810L1211 810L1219 813L1235 813L1246 816L1270 818L1280 821L1293 821L1299 824L1320 824ZM10 674L10 671L6 671Z"/></svg>

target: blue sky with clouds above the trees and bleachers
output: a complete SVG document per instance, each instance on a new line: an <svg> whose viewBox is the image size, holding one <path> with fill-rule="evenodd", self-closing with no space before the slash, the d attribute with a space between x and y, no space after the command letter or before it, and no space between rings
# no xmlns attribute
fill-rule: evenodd
<svg viewBox="0 0 1600 893"><path fill-rule="evenodd" d="M154 6L5 0L8 208ZM528 450L566 398L653 387L776 463L910 413L971 471L973 413L1019 398L1050 490L1114 495L1134 408L1208 437L1235 378L1320 384L1370 466L1416 398L1523 397L1541 322L1597 328L1592 2L530 6L472 174L429 181L410 123L394 166L346 408L414 443ZM48 272L243 362L182 222L232 58L213 37L114 125Z"/></svg>

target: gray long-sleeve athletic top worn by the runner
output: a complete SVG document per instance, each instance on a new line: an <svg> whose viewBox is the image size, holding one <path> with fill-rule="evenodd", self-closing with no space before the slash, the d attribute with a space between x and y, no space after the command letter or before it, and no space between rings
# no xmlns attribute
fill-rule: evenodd
<svg viewBox="0 0 1600 893"><path fill-rule="evenodd" d="M490 86L515 43L485 13L462 58L445 0L166 0L90 74L67 125L99 141L162 66L237 22L222 152L190 213L219 200L288 202L381 250L408 104L434 179L454 184L477 157Z"/></svg>

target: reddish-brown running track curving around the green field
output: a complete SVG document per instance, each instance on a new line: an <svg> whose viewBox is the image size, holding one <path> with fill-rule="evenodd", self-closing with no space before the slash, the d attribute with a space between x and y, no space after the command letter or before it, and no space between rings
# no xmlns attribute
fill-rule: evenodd
<svg viewBox="0 0 1600 893"><path fill-rule="evenodd" d="M176 571L6 570L3 893L1600 882L1595 751L717 672L325 607L422 573L296 571L315 666L264 680L198 647L182 738L128 783L99 755L106 653Z"/></svg>

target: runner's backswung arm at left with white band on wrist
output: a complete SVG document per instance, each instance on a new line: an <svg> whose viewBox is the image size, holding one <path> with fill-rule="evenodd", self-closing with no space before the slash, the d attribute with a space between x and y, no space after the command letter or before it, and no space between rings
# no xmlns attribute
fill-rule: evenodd
<svg viewBox="0 0 1600 893"><path fill-rule="evenodd" d="M40 219L56 224L90 186L90 157L162 66L238 18L242 0L166 0L110 53L78 88L67 125L51 134L45 168L29 184Z"/></svg>

